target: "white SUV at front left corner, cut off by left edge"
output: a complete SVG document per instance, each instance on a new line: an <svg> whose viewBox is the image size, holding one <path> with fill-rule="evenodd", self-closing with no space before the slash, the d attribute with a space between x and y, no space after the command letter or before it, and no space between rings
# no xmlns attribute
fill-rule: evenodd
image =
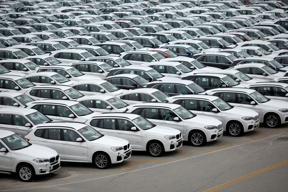
<svg viewBox="0 0 288 192"><path fill-rule="evenodd" d="M60 158L55 150L30 144L6 130L0 130L0 159L1 173L16 173L24 182L32 182L36 175L60 168Z"/></svg>

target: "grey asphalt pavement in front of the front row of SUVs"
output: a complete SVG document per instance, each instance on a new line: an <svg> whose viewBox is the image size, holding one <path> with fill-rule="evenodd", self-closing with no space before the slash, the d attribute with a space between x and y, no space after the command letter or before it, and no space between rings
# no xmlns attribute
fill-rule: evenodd
<svg viewBox="0 0 288 192"><path fill-rule="evenodd" d="M288 127L260 125L240 137L222 136L204 147L183 147L132 157L105 170L61 162L61 169L33 183L0 174L0 191L287 191Z"/></svg>

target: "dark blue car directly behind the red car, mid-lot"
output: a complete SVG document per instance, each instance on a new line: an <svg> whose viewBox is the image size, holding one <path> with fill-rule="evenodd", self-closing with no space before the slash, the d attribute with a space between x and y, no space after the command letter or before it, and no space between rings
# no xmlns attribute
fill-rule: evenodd
<svg viewBox="0 0 288 192"><path fill-rule="evenodd" d="M200 51L196 50L192 46L183 44L165 45L160 48L168 49L176 55L184 57L193 57L194 54L200 53Z"/></svg>

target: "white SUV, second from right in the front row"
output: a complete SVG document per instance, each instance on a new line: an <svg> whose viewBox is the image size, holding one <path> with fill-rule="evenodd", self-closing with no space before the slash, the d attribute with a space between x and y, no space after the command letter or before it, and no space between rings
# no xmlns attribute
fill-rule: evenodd
<svg viewBox="0 0 288 192"><path fill-rule="evenodd" d="M180 104L197 115L222 121L224 131L230 136L240 136L260 124L259 114L250 109L234 107L219 97L211 95L177 95L167 98L169 103Z"/></svg>

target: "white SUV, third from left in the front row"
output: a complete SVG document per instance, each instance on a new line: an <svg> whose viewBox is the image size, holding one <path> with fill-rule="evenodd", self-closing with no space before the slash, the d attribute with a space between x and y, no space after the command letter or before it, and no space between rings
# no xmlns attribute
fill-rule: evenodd
<svg viewBox="0 0 288 192"><path fill-rule="evenodd" d="M183 142L178 130L154 125L137 114L103 113L85 123L105 135L127 139L132 150L148 151L153 157L174 151Z"/></svg>

